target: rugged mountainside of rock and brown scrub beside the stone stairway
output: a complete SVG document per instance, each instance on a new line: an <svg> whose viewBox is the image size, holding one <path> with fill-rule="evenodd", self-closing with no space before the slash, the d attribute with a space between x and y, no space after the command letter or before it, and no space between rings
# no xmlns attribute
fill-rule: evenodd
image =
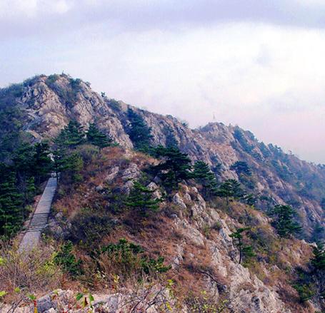
<svg viewBox="0 0 325 313"><path fill-rule="evenodd" d="M6 305L26 289L46 294L37 305L48 313L82 312L79 300L94 302L94 312L324 312L324 252L316 264L315 245L306 242L324 236L324 166L237 126L191 130L64 74L2 89L0 109L3 164L19 165L13 151L41 140L56 147L55 160L66 145L72 164L56 170L59 189L39 249L26 262L15 243L1 246ZM91 143L90 124L111 142ZM68 133L78 129L76 137L62 135L66 125ZM146 131L149 148L132 127ZM195 161L211 172L202 175L204 163ZM226 182L234 193L225 194ZM281 236L267 214L286 204L298 212L300 235ZM50 294L58 288L65 291ZM78 291L84 295L76 299Z"/></svg>

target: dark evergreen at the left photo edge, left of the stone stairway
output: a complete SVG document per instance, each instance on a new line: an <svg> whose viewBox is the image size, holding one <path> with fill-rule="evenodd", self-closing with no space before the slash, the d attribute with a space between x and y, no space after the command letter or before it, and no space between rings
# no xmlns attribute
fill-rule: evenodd
<svg viewBox="0 0 325 313"><path fill-rule="evenodd" d="M16 233L21 226L22 195L16 188L14 173L9 173L8 177L0 184L0 235L9 238Z"/></svg>

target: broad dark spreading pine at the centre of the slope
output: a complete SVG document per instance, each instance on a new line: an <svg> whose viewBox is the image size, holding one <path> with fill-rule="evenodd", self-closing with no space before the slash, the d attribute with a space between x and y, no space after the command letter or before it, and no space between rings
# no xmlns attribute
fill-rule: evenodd
<svg viewBox="0 0 325 313"><path fill-rule="evenodd" d="M178 148L164 148L159 145L155 149L155 156L164 161L151 167L155 175L161 178L165 188L169 191L178 188L181 180L191 178L191 160L186 153L181 153Z"/></svg>

